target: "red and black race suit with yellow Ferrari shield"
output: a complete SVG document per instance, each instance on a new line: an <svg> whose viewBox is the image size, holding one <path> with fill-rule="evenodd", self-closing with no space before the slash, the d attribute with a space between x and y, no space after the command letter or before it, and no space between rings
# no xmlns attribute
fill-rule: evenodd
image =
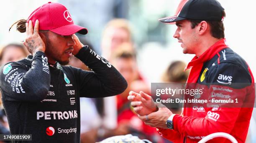
<svg viewBox="0 0 256 143"><path fill-rule="evenodd" d="M210 97L218 96L225 99L239 94L243 102L254 102L255 86L251 70L248 64L225 44L225 39L216 42L200 57L195 56L187 68L192 68L187 84L210 83ZM248 84L238 89L233 83ZM215 85L220 85L221 88L216 88ZM216 132L229 133L238 143L244 143L252 110L253 104L247 108L185 107L182 115L174 116L173 130L157 130L161 136L174 143L197 143L205 136ZM214 138L210 142L230 141L225 138Z"/></svg>

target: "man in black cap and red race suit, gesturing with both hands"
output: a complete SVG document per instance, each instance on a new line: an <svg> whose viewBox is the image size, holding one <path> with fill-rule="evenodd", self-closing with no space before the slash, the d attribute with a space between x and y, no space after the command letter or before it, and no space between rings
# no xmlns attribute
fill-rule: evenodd
<svg viewBox="0 0 256 143"><path fill-rule="evenodd" d="M168 108L158 108L152 97L142 91L139 94L131 91L128 99L142 121L158 128L161 136L175 143L197 143L217 132L228 133L238 143L244 143L255 100L254 78L246 61L226 44L224 8L217 0L182 0L180 6L176 15L159 21L176 24L173 37L181 43L183 53L195 54L186 68L191 68L187 83L207 89L202 96L184 98L202 99L204 95L208 100L239 98L236 102L239 104L225 102L227 104L220 105L206 100L213 106L184 106L183 114L177 115ZM229 97L215 97L213 93ZM230 141L214 138L210 142Z"/></svg>

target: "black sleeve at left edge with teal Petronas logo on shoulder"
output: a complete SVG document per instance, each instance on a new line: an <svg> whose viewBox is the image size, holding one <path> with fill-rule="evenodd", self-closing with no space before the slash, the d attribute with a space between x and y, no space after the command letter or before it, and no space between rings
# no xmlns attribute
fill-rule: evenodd
<svg viewBox="0 0 256 143"><path fill-rule="evenodd" d="M50 71L44 52L36 52L31 68L10 62L0 71L3 99L9 101L41 101L50 87Z"/></svg>

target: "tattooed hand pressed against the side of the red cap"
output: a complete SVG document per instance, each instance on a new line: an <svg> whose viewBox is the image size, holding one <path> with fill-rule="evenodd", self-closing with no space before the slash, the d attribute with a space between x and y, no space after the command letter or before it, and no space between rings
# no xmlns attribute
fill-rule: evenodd
<svg viewBox="0 0 256 143"><path fill-rule="evenodd" d="M28 52L34 54L37 51L45 52L45 44L39 35L39 21L36 20L35 27L33 28L33 23L29 20L26 23L26 39L23 44L27 47Z"/></svg>

